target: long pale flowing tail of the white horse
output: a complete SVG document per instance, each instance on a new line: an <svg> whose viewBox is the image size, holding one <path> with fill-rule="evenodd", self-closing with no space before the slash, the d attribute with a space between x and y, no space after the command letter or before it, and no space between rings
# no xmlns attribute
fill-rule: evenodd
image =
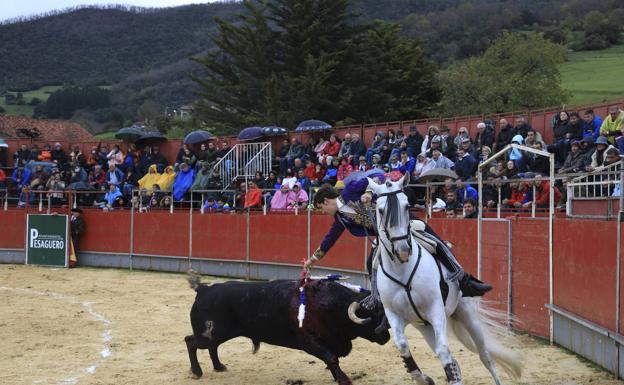
<svg viewBox="0 0 624 385"><path fill-rule="evenodd" d="M461 301L465 301L473 308L472 314L478 315L485 348L496 364L512 378L519 379L522 375L524 357L520 341L506 326L507 313L494 309L479 298L464 297ZM461 322L450 317L449 326L468 350L479 354L472 336Z"/></svg>

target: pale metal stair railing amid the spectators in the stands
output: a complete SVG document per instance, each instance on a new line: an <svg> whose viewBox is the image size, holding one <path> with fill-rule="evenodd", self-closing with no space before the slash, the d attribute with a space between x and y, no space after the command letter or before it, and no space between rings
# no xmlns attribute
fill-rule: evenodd
<svg viewBox="0 0 624 385"><path fill-rule="evenodd" d="M227 190L239 178L253 179L257 171L268 174L272 155L270 142L239 143L219 159L213 170L219 170L223 190Z"/></svg>

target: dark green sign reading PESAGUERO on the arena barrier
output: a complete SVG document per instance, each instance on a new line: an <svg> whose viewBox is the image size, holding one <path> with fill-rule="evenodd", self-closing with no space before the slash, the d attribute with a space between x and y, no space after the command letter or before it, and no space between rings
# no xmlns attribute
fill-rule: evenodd
<svg viewBox="0 0 624 385"><path fill-rule="evenodd" d="M28 214L26 264L67 267L67 215Z"/></svg>

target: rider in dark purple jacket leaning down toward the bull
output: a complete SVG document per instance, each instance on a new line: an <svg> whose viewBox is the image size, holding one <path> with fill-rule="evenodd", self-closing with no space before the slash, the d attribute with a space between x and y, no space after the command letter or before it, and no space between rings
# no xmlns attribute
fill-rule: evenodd
<svg viewBox="0 0 624 385"><path fill-rule="evenodd" d="M379 172L371 175L369 172L367 176L383 178L384 174ZM342 193L339 193L330 185L324 185L314 195L314 206L325 214L333 216L334 223L327 235L325 235L321 245L305 262L305 268L309 269L316 261L323 258L345 229L349 230L356 237L377 235L374 217L375 210L371 207L375 197L368 188L368 179L362 175L348 179L345 179L345 188ZM451 272L446 278L449 281L457 280L459 282L459 288L464 297L482 296L492 289L492 286L466 273L448 246L426 223L416 217L412 217L410 227L412 234L417 239L428 242L433 246L434 257ZM373 257L377 251L376 246L376 242L373 241L373 249L366 260L372 293L362 301L362 305L368 309L381 308L377 292L376 268L373 268Z"/></svg>

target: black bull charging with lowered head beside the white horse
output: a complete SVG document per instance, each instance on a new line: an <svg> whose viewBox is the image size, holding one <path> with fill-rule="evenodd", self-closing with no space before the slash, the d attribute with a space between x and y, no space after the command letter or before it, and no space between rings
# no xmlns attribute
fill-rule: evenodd
<svg viewBox="0 0 624 385"><path fill-rule="evenodd" d="M359 317L372 322L359 325L347 314L349 305L367 293L355 293L336 282L313 281L306 285L306 316L299 328L298 281L226 282L213 285L199 283L197 276L189 279L197 291L191 309L193 334L185 338L191 360L191 371L201 377L197 349L208 349L215 371L225 370L219 360L220 344L235 338L248 337L255 353L260 342L303 350L321 359L341 385L351 380L340 369L338 357L345 357L351 341L365 338L380 345L390 339L384 330L375 334L378 316L358 310Z"/></svg>

